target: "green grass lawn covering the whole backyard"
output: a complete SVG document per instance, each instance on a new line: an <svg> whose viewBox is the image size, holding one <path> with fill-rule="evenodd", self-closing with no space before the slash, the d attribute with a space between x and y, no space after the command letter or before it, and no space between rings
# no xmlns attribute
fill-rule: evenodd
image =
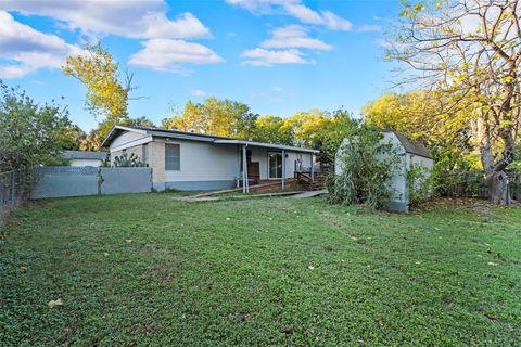
<svg viewBox="0 0 521 347"><path fill-rule="evenodd" d="M521 345L521 209L176 195L15 213L0 345Z"/></svg>

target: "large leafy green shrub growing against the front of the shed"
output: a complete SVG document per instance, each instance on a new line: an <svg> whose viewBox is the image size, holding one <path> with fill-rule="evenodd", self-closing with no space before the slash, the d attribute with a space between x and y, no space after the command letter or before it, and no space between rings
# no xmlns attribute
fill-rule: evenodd
<svg viewBox="0 0 521 347"><path fill-rule="evenodd" d="M358 125L340 147L336 159L341 174L328 179L329 201L334 204L364 204L370 208L387 206L393 191L391 178L399 158L392 144L382 143L382 132Z"/></svg>

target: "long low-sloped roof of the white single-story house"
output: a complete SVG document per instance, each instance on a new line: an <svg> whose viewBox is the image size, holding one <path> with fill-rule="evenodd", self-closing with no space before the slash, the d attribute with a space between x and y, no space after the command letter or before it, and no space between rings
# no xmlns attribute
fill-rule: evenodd
<svg viewBox="0 0 521 347"><path fill-rule="evenodd" d="M203 141L203 142L212 142L215 144L240 144L240 145L268 147L268 149L275 149L275 150L288 150L288 151L294 151L294 152L319 153L319 151L316 151L316 150L296 147L296 146L284 145L284 144L255 142L255 141L247 141L242 139L187 132L187 131L180 131L180 130L167 130L167 129L145 128L145 127L123 127L123 126L115 126L111 130L111 132L107 134L102 145L103 146L110 145L115 138L117 138L122 132L126 132L126 131L132 131L132 132L142 133L145 136L152 136L152 137L158 137L158 138L174 138L174 139L183 139L183 140L192 140L192 141Z"/></svg>

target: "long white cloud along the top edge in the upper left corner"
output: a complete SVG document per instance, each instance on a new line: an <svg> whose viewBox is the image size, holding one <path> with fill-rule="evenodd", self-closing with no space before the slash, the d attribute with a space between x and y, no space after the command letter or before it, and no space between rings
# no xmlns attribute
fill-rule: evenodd
<svg viewBox="0 0 521 347"><path fill-rule="evenodd" d="M191 13L182 13L177 18L169 20L166 16L168 7L164 0L2 0L0 10L52 17L68 29L79 29L93 36L117 35L147 39L212 36L208 28Z"/></svg>

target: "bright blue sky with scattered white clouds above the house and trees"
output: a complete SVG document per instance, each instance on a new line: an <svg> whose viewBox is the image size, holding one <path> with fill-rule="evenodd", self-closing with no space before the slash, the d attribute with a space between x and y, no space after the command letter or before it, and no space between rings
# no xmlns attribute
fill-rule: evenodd
<svg viewBox="0 0 521 347"><path fill-rule="evenodd" d="M0 78L38 101L59 100L90 130L85 88L60 66L100 40L144 97L130 101L132 117L158 124L171 105L206 97L262 115L358 114L391 88L380 42L398 12L398 0L2 0Z"/></svg>

